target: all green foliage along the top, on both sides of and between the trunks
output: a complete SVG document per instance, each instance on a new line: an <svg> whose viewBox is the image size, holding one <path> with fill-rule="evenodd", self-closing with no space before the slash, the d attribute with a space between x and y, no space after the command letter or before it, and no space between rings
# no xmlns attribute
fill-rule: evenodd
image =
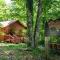
<svg viewBox="0 0 60 60"><path fill-rule="evenodd" d="M56 19L60 17L60 0L42 0L43 14L46 13L46 18ZM26 1L12 0L12 4L7 6L4 0L0 0L0 20L21 19L26 20ZM36 20L37 1L34 0L34 22Z"/></svg>

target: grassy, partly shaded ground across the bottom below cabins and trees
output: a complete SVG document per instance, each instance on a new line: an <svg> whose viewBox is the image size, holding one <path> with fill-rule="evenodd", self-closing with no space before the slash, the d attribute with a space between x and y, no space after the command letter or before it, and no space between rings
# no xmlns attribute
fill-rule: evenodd
<svg viewBox="0 0 60 60"><path fill-rule="evenodd" d="M46 60L45 51L43 50L42 47L40 49L28 50L27 45L24 43L0 43L0 60ZM49 54L49 59L60 60L60 55Z"/></svg>

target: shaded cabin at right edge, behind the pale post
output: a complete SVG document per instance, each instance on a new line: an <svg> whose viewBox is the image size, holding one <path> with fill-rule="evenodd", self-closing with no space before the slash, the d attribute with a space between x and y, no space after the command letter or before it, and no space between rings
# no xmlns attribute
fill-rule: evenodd
<svg viewBox="0 0 60 60"><path fill-rule="evenodd" d="M60 52L60 19L49 20L45 23L45 37L48 38L45 39L48 41L46 46Z"/></svg>

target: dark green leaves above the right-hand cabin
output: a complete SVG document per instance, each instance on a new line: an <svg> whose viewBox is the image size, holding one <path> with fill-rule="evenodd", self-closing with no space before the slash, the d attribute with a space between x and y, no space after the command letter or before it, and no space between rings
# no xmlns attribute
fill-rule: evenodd
<svg viewBox="0 0 60 60"><path fill-rule="evenodd" d="M46 0L44 8L47 20L60 17L60 0Z"/></svg>

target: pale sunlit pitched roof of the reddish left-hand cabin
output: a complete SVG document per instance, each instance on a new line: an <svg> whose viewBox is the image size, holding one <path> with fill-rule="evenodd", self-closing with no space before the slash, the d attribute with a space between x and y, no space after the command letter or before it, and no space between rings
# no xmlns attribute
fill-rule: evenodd
<svg viewBox="0 0 60 60"><path fill-rule="evenodd" d="M27 27L25 22L20 22L19 20L9 20L9 21L1 21L0 22L0 27L7 27L10 24L13 24L15 22L19 22L20 25L22 25L23 27Z"/></svg>

